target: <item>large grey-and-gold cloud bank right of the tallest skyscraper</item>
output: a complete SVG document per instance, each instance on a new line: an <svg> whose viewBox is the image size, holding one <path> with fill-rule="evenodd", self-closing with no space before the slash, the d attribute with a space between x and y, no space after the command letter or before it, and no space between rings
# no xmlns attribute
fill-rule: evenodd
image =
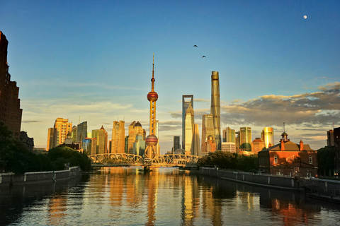
<svg viewBox="0 0 340 226"><path fill-rule="evenodd" d="M340 83L319 87L319 92L299 95L264 95L246 102L221 106L221 121L226 124L280 126L311 124L328 126L340 123Z"/></svg>

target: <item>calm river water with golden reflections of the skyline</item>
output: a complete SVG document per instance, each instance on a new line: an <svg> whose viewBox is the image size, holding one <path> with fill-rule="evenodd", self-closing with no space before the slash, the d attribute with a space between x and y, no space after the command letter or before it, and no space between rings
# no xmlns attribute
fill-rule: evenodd
<svg viewBox="0 0 340 226"><path fill-rule="evenodd" d="M176 168L0 187L0 225L340 225L340 206Z"/></svg>

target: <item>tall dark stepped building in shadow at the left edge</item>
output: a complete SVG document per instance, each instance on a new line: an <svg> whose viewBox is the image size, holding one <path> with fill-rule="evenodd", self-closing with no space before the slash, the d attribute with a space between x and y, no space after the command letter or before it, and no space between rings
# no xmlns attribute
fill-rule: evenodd
<svg viewBox="0 0 340 226"><path fill-rule="evenodd" d="M14 138L20 138L21 117L19 88L15 81L11 81L7 64L8 41L0 31L0 121L12 132Z"/></svg>

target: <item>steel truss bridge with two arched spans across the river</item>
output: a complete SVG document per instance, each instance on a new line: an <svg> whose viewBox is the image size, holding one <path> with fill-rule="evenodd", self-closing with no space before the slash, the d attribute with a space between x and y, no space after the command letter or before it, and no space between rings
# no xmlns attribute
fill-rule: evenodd
<svg viewBox="0 0 340 226"><path fill-rule="evenodd" d="M89 155L92 165L107 165L107 166L142 166L142 165L152 165L152 166L164 166L164 167L197 167L197 161L200 156L196 155L180 155L180 154L170 154L170 155L158 155L152 160L145 161L140 155L132 155L126 153L106 153Z"/></svg>

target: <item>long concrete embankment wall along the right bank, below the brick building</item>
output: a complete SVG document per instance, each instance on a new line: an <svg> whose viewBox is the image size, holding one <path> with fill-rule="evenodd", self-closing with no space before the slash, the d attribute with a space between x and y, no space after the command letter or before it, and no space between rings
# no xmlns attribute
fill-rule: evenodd
<svg viewBox="0 0 340 226"><path fill-rule="evenodd" d="M235 182L275 187L279 189L302 189L300 182L292 177L282 177L271 174L254 174L248 172L233 172L227 169L210 167L200 167L200 174L210 177L229 179Z"/></svg>

